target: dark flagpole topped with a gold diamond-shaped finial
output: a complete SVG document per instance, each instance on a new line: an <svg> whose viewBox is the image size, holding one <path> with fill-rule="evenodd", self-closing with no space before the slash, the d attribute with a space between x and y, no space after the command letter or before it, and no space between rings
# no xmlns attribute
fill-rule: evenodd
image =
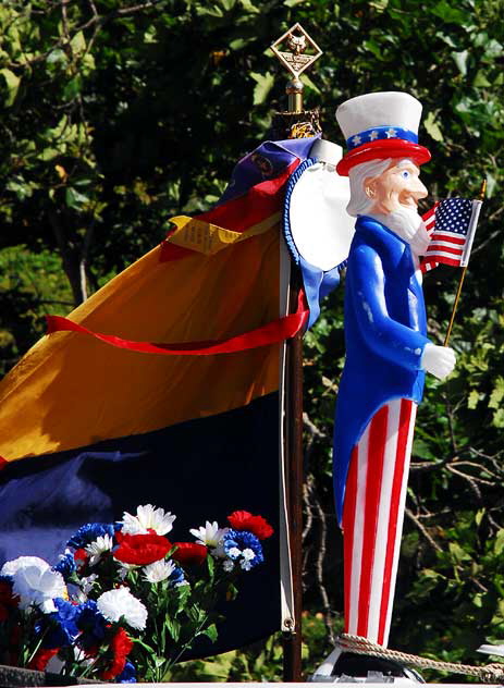
<svg viewBox="0 0 504 688"><path fill-rule="evenodd" d="M285 50L285 47L288 50ZM299 76L310 66L322 51L299 24L292 26L272 46L271 49L280 62L292 75L286 85L288 96L287 111L278 112L273 119L275 139L304 138L321 133L317 110L303 108L303 82ZM306 52L309 50L309 52ZM290 270L287 295L288 312L294 312L302 280L298 269L288 259L284 265ZM282 296L281 296L282 298ZM292 579L290 618L283 622L285 681L302 680L302 611L303 611L303 334L298 333L285 344L283 365L283 427L284 457L283 476L286 493L286 533Z"/></svg>

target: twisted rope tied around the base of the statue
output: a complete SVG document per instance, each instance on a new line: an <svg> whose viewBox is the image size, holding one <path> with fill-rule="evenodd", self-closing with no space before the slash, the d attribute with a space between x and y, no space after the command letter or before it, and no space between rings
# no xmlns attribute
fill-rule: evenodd
<svg viewBox="0 0 504 688"><path fill-rule="evenodd" d="M503 684L504 683L504 664L487 664L485 666L472 666L470 664L459 664L457 662L441 662L440 660L429 660L427 658L399 652L397 650L389 650L383 646L371 642L367 638L360 636L352 636L351 634L341 634L339 638L340 646L356 654L371 654L385 660L396 660L403 664L418 666L420 668L433 668L442 672L452 672L454 674L467 674L477 676L485 684Z"/></svg>

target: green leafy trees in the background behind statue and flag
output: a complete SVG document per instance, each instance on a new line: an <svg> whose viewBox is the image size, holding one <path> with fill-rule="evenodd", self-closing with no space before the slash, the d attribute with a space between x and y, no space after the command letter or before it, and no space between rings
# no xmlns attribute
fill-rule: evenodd
<svg viewBox="0 0 504 688"><path fill-rule="evenodd" d="M458 366L447 383L429 382L417 421L391 638L475 661L480 642L504 640L502 0L2 2L1 372L42 333L45 312L66 314L156 245L168 218L217 200L285 108L267 48L294 22L324 51L305 105L320 107L327 138L342 143L333 112L344 99L404 89L425 108L429 201L476 196L488 180L452 337ZM441 267L425 281L437 343L456 280ZM341 624L329 450L341 299L305 346L307 669ZM278 678L279 653L269 641L181 677Z"/></svg>

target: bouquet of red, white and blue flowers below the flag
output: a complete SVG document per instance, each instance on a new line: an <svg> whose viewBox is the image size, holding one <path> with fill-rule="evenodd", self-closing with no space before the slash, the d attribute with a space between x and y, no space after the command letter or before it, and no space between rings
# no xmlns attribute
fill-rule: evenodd
<svg viewBox="0 0 504 688"><path fill-rule="evenodd" d="M87 524L54 566L20 556L0 570L0 663L115 683L161 681L198 637L217 640L217 605L263 562L273 529L237 511L229 526L167 538L175 516L147 504Z"/></svg>

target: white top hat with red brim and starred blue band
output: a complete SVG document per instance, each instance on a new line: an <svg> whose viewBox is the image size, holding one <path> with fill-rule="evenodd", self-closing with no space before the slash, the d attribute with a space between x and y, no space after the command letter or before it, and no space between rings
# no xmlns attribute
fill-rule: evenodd
<svg viewBox="0 0 504 688"><path fill-rule="evenodd" d="M421 103L401 91L365 94L343 102L336 120L348 152L337 164L339 174L347 176L354 165L377 158L429 162L429 150L418 145L420 115Z"/></svg>

